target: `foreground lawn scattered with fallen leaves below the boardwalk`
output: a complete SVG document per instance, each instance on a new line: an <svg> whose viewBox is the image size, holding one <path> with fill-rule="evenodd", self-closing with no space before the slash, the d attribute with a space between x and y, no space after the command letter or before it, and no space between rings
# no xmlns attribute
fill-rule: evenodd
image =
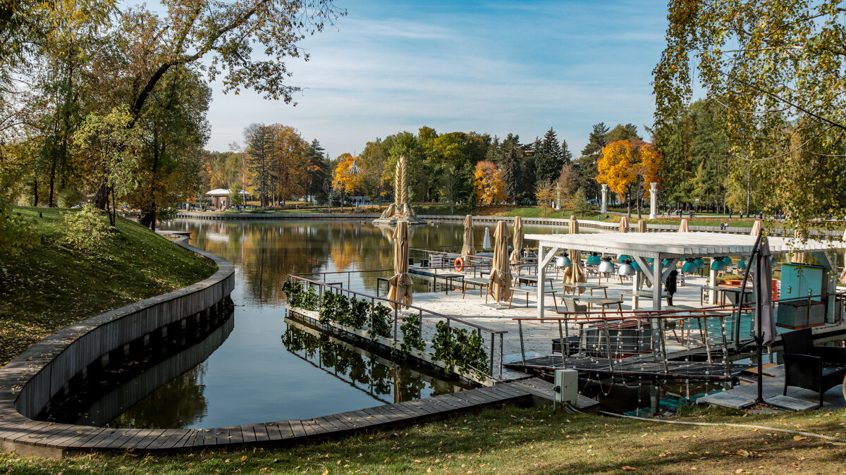
<svg viewBox="0 0 846 475"><path fill-rule="evenodd" d="M843 411L753 416L685 408L682 414L669 420L846 436ZM844 445L766 429L504 407L284 450L91 454L63 461L0 455L0 473L843 473Z"/></svg>

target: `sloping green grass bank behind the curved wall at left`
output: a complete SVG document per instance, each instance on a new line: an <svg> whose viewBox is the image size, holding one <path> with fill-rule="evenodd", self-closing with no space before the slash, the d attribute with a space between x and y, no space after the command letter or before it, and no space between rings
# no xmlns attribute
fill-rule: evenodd
<svg viewBox="0 0 846 475"><path fill-rule="evenodd" d="M32 221L41 243L17 256L0 253L0 366L64 326L214 272L204 259L121 217L118 232L87 255L64 245L63 216L78 210L14 211Z"/></svg>

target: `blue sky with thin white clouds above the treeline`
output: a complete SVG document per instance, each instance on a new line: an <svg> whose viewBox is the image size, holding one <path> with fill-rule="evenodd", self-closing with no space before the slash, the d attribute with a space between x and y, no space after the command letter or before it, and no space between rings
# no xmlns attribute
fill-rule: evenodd
<svg viewBox="0 0 846 475"><path fill-rule="evenodd" d="M554 128L574 156L593 124L645 134L651 71L664 46L660 0L336 0L348 15L289 59L296 106L212 83L208 150L243 145L250 123L283 123L330 156L426 125L437 132L519 134Z"/></svg>

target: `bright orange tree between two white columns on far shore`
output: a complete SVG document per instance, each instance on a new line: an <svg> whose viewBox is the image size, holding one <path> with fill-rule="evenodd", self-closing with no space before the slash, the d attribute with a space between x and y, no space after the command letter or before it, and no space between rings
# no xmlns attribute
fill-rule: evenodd
<svg viewBox="0 0 846 475"><path fill-rule="evenodd" d="M637 214L640 217L640 197L645 194L644 183L659 183L662 156L655 145L643 140L618 140L602 149L602 158L596 163L599 175L596 181L607 183L608 188L625 199L632 210L632 197L638 197Z"/></svg>

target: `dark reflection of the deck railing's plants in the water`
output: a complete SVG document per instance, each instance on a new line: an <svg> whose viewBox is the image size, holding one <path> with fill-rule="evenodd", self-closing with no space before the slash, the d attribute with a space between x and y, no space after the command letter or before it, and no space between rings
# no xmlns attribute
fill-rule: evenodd
<svg viewBox="0 0 846 475"><path fill-rule="evenodd" d="M382 402L413 401L470 388L444 375L394 363L360 347L288 320L282 341L288 352Z"/></svg>

